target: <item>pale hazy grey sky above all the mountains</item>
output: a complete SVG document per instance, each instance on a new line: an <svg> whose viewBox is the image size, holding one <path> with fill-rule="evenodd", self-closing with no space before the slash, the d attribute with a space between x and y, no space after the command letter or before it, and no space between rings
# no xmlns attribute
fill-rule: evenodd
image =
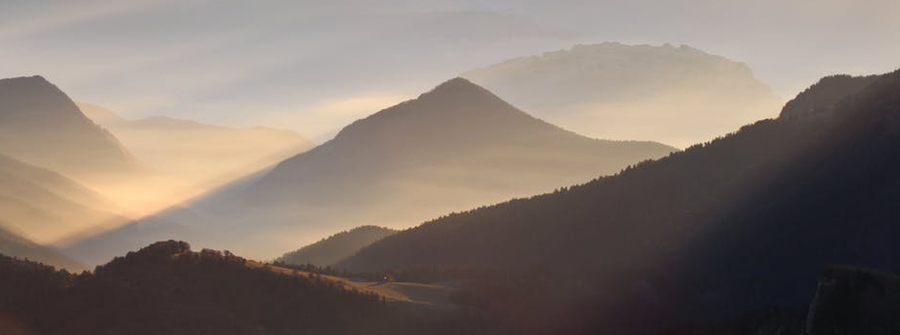
<svg viewBox="0 0 900 335"><path fill-rule="evenodd" d="M467 70L579 43L687 44L791 97L900 68L896 0L0 0L0 77L128 118L324 138Z"/></svg>

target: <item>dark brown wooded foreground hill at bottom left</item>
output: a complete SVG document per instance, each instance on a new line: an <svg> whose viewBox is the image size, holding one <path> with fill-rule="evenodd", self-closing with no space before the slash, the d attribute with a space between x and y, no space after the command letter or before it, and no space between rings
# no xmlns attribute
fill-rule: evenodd
<svg viewBox="0 0 900 335"><path fill-rule="evenodd" d="M407 316L414 306L389 306L324 276L252 264L175 241L154 243L77 276L0 255L0 329L71 335L415 334L410 330L436 313Z"/></svg>

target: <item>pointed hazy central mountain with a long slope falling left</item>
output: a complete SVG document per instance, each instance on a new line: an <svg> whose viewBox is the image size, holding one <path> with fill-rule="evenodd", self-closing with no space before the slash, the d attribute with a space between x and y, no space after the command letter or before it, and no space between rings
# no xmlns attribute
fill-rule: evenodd
<svg viewBox="0 0 900 335"><path fill-rule="evenodd" d="M405 228L584 182L674 150L587 138L456 78L348 125L230 199L194 203L70 250L90 263L178 238L267 259L361 224ZM122 241L134 242L122 249Z"/></svg>

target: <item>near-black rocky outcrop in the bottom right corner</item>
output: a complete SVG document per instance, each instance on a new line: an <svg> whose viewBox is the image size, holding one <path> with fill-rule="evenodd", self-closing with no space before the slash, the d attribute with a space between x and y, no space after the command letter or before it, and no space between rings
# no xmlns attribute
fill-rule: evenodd
<svg viewBox="0 0 900 335"><path fill-rule="evenodd" d="M806 321L807 335L897 334L900 277L862 268L825 270Z"/></svg>

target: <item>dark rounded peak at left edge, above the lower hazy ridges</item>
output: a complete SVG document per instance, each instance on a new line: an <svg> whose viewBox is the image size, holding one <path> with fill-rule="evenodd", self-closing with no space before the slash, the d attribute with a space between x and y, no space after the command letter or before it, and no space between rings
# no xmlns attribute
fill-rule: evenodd
<svg viewBox="0 0 900 335"><path fill-rule="evenodd" d="M82 181L140 168L115 137L40 76L0 80L0 152Z"/></svg>

